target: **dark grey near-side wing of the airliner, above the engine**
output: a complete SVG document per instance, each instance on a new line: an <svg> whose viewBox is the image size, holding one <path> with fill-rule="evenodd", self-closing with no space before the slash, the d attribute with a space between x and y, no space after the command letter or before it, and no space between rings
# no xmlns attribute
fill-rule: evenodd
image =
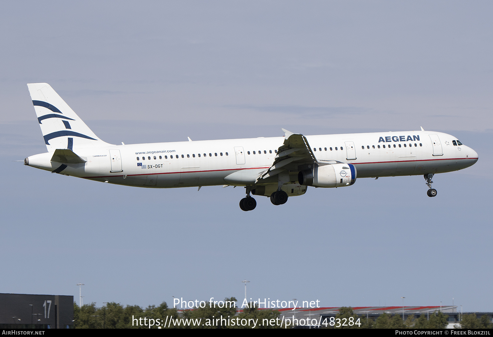
<svg viewBox="0 0 493 337"><path fill-rule="evenodd" d="M255 183L262 183L263 180L281 173L286 169L309 169L313 168L317 159L308 144L308 140L304 135L294 134L285 129L284 143L278 149L277 156L274 158L274 163L269 169L263 171L255 180ZM323 165L323 164L322 164Z"/></svg>

